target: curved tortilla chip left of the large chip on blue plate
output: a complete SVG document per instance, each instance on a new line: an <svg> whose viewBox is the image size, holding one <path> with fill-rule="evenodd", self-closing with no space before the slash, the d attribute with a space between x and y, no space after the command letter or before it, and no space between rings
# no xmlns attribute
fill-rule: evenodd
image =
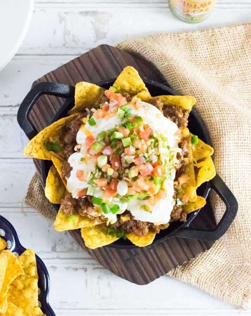
<svg viewBox="0 0 251 316"><path fill-rule="evenodd" d="M6 257L8 265L5 271L2 289L0 292L0 313L5 313L7 310L7 292L9 290L10 283L20 274L24 273L18 259L10 250L4 250L0 254L0 258Z"/></svg>

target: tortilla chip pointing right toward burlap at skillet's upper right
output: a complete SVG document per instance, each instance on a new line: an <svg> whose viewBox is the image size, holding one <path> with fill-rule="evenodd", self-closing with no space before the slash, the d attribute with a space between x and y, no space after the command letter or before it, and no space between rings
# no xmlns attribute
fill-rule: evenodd
<svg viewBox="0 0 251 316"><path fill-rule="evenodd" d="M193 105L196 102L195 98L191 95L159 95L157 97L153 97L153 99L157 98L159 98L164 103L164 106L180 106L187 111L191 111Z"/></svg>

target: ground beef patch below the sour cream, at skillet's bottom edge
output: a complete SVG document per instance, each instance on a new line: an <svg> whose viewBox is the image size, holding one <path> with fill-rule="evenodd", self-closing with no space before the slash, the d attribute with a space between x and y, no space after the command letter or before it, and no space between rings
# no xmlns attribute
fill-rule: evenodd
<svg viewBox="0 0 251 316"><path fill-rule="evenodd" d="M120 218L121 216L129 216L130 219L128 221L123 222ZM154 225L153 223L149 222L141 222L136 221L135 217L129 211L125 211L122 215L118 215L118 220L115 224L111 225L113 228L123 229L125 233L134 232L136 236L142 237L145 236L148 231L159 233L160 226Z"/></svg>

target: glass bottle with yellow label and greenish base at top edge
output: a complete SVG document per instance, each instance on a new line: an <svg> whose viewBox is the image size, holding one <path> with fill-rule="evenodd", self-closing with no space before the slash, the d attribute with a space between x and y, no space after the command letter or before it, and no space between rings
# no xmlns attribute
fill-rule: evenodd
<svg viewBox="0 0 251 316"><path fill-rule="evenodd" d="M204 21L213 11L216 0L168 0L172 14L187 23Z"/></svg>

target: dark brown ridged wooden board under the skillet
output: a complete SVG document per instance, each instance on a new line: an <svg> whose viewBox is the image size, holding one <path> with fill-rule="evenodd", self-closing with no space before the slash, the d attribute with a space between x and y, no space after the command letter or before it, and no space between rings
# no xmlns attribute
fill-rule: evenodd
<svg viewBox="0 0 251 316"><path fill-rule="evenodd" d="M151 79L160 83L165 81L153 65L146 65L118 48L101 45L37 79L33 86L39 82L59 82L73 86L80 81L97 83L117 77L128 65L136 68L143 80ZM51 123L54 114L64 102L64 99L54 96L40 97L30 113L30 119L38 131ZM34 159L34 162L37 173L42 179L40 160ZM209 203L199 212L190 226L203 229L212 229L215 226ZM213 245L213 242L172 237L167 241L145 248L114 249L102 247L92 250L85 247L78 230L72 230L69 233L85 251L105 268L123 279L140 285L150 283L159 276L195 258L199 253L210 249Z"/></svg>

